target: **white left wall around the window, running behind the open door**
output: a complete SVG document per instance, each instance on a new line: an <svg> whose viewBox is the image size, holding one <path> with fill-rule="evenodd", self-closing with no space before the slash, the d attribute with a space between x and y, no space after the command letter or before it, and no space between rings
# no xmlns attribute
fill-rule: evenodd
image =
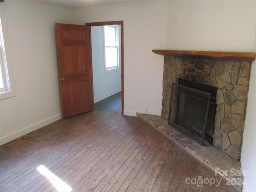
<svg viewBox="0 0 256 192"><path fill-rule="evenodd" d="M55 23L73 11L35 1L1 3L16 96L0 101L1 144L61 118Z"/></svg>

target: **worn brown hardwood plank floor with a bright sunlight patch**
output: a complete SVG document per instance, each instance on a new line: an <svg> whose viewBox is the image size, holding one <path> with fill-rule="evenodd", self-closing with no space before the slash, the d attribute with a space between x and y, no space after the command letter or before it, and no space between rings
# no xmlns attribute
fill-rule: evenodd
<svg viewBox="0 0 256 192"><path fill-rule="evenodd" d="M38 171L42 166L68 185L62 184L65 191L236 191L136 117L95 110L28 135L1 149L1 192L58 191L51 183L54 179ZM201 176L222 180L219 186L186 184L187 178L188 183Z"/></svg>

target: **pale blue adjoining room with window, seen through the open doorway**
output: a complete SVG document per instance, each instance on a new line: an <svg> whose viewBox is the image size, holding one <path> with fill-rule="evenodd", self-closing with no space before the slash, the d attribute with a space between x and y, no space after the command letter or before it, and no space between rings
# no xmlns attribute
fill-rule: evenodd
<svg viewBox="0 0 256 192"><path fill-rule="evenodd" d="M110 29L109 34L106 33L105 28ZM94 107L96 110L122 113L121 25L91 26L91 41ZM107 46L111 48L115 46L117 49L114 49L114 54L109 53L110 64L106 62ZM112 61L111 58L114 60Z"/></svg>

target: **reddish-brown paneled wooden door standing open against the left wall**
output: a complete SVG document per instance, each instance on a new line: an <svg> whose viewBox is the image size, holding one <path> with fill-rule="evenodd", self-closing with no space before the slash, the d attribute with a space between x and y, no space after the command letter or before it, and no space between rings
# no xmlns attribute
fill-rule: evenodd
<svg viewBox="0 0 256 192"><path fill-rule="evenodd" d="M94 109L88 26L56 24L62 118Z"/></svg>

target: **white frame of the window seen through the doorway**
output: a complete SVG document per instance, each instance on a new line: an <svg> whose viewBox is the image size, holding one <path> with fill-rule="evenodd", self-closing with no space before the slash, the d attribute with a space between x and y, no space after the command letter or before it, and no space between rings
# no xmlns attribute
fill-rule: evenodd
<svg viewBox="0 0 256 192"><path fill-rule="evenodd" d="M115 28L115 38L116 38L116 46L105 46L105 26L107 27L113 27ZM104 72L105 73L109 73L109 72L115 72L120 70L120 62L119 62L119 31L118 31L118 25L105 25L102 27L103 29L103 52L104 52ZM117 61L117 65L116 66L112 66L112 67L106 67L106 48L116 48L116 61Z"/></svg>

